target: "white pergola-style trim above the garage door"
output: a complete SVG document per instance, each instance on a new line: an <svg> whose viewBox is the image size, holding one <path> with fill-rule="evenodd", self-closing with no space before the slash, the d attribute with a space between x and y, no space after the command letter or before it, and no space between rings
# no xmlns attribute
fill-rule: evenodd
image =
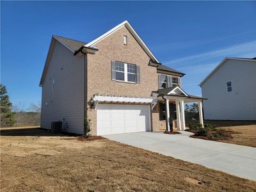
<svg viewBox="0 0 256 192"><path fill-rule="evenodd" d="M151 103L152 98L140 98L140 97L110 97L95 95L92 98L93 101L98 102L137 102L137 103Z"/></svg>

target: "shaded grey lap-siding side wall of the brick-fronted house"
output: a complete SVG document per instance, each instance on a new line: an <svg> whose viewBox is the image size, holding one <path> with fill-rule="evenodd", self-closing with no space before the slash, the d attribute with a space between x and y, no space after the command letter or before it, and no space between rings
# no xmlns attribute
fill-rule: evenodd
<svg viewBox="0 0 256 192"><path fill-rule="evenodd" d="M53 79L55 85L52 91ZM56 41L42 86L41 127L51 129L51 122L65 118L67 132L83 134L83 110L84 56L73 56Z"/></svg>

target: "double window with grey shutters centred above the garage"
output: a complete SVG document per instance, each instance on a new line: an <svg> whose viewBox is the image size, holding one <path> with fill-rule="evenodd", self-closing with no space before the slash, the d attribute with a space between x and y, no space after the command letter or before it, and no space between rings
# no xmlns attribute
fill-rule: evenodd
<svg viewBox="0 0 256 192"><path fill-rule="evenodd" d="M112 79L131 83L140 83L140 67L134 64L112 61Z"/></svg>

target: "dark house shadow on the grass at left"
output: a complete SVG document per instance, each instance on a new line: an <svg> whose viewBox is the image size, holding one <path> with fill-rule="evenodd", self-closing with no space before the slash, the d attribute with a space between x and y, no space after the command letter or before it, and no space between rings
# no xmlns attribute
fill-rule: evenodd
<svg viewBox="0 0 256 192"><path fill-rule="evenodd" d="M0 129L1 136L77 136L76 134L53 134L48 129L42 128L15 128L13 129Z"/></svg>

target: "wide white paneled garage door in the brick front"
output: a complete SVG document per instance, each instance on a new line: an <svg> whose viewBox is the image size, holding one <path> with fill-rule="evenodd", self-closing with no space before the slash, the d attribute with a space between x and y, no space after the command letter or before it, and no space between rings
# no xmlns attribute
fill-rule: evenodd
<svg viewBox="0 0 256 192"><path fill-rule="evenodd" d="M97 134L150 130L150 107L115 104L97 105Z"/></svg>

